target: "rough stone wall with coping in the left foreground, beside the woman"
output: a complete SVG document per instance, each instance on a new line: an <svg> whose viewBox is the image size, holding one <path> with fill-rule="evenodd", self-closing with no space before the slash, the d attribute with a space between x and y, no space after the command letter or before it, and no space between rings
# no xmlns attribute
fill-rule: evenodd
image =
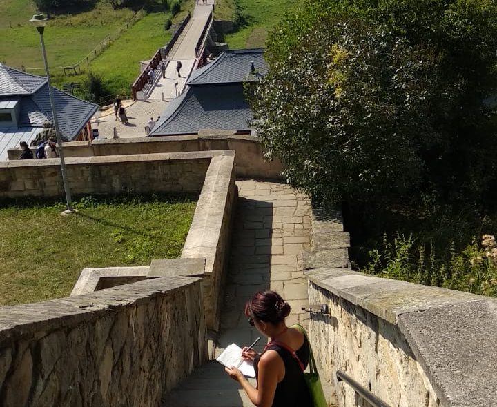
<svg viewBox="0 0 497 407"><path fill-rule="evenodd" d="M207 357L202 281L0 308L0 406L157 407Z"/></svg>

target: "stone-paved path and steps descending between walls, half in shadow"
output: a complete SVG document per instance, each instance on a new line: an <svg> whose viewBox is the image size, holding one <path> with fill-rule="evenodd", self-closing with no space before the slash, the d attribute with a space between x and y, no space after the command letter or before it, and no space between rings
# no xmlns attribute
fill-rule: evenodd
<svg viewBox="0 0 497 407"><path fill-rule="evenodd" d="M308 303L302 273L302 252L309 250L311 207L309 199L281 183L237 181L239 199L233 230L230 269L216 355L231 343L250 344L259 336L244 315L246 301L258 290L280 292L292 312L287 324L307 326ZM255 348L262 351L264 340ZM253 406L224 368L209 361L177 389L166 395L168 407Z"/></svg>

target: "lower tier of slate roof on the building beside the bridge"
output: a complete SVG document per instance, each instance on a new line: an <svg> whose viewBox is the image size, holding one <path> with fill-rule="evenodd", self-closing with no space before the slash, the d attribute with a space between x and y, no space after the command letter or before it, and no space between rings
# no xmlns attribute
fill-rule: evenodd
<svg viewBox="0 0 497 407"><path fill-rule="evenodd" d="M169 103L151 135L192 135L202 129L248 131L252 117L240 85L191 87Z"/></svg>

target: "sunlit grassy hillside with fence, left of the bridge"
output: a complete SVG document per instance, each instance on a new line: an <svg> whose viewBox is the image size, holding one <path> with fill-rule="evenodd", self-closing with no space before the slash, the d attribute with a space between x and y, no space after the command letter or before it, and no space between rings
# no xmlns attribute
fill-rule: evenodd
<svg viewBox="0 0 497 407"><path fill-rule="evenodd" d="M193 4L193 0L185 1L184 11L176 20L184 18ZM24 66L28 72L44 75L39 36L28 22L35 12L32 0L0 1L0 35L3 38L0 60L14 68ZM139 74L139 61L150 59L170 40L164 23L172 18L169 12L162 11L162 3L157 1L153 11L139 12L136 22L130 23L128 30L118 37L119 28L129 23L133 16L133 10L113 10L106 1L97 3L92 10L51 16L44 38L54 85L61 88L71 81L82 83L88 70L92 70L104 77L109 94L129 94L131 83ZM75 65L109 35L118 38L90 61L90 66L82 64L81 75L64 76L61 70L55 69Z"/></svg>

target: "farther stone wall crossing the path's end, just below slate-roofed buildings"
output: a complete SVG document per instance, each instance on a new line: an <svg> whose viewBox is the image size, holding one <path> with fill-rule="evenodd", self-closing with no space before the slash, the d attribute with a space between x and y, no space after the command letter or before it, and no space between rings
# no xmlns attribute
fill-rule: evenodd
<svg viewBox="0 0 497 407"><path fill-rule="evenodd" d="M236 150L237 177L281 179L280 172L283 166L280 161L276 159L265 161L264 150L259 139L248 135L137 137L135 139L102 139L64 143L64 157L212 150ZM17 160L19 154L19 149L8 150L9 160Z"/></svg>

